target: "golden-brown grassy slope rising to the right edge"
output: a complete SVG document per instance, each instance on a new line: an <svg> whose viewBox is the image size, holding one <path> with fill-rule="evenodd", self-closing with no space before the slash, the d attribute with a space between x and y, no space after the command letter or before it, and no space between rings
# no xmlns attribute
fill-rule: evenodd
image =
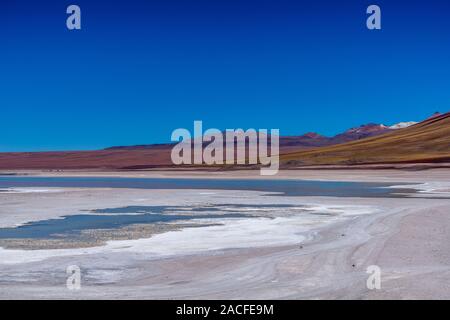
<svg viewBox="0 0 450 320"><path fill-rule="evenodd" d="M344 144L287 153L287 166L450 162L450 113Z"/></svg>

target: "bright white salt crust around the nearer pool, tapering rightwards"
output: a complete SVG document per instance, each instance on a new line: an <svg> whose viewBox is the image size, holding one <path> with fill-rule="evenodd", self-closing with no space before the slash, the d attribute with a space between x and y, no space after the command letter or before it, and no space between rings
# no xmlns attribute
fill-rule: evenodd
<svg viewBox="0 0 450 320"><path fill-rule="evenodd" d="M73 193L68 192L67 195L53 195L53 197L65 197L65 203L70 206L71 202L79 203L82 198L86 198L86 195L90 194L91 197L95 195L95 203L98 206L101 201L106 202L109 199L108 197L114 198L115 194L119 193L124 198L128 198L128 201L130 201L131 196L139 195L141 198L135 200L138 200L138 203L142 204L142 197L147 192L126 189L84 190ZM164 194L166 196L169 196L170 193L172 192L167 190L160 190L158 192L159 195ZM69 194L70 196L68 196ZM299 205L297 204L298 199L295 198L283 199L282 197L277 197L273 199L270 195L242 191L238 193L238 197L240 198L240 201L237 201L238 205L208 204L205 206L201 205L201 199L207 199L208 195L210 195L208 192L178 190L176 194L182 197L182 201L184 201L183 199L185 197L194 199L194 208L186 205L183 206L186 219L190 217L194 218L194 220L183 221L183 216L178 216L181 220L177 223L140 224L116 230L87 229L81 232L79 237L75 237L75 240L73 235L71 238L59 236L56 239L21 239L20 237L17 239L3 239L0 240L0 245L6 246L9 249L0 250L0 260L3 264L25 263L39 261L49 257L122 251L144 253L147 254L147 257L161 257L227 248L297 244L309 238L311 236L310 231L315 227L376 211L376 208L370 206L329 206L314 203ZM198 194L197 199L193 198L194 194ZM233 200L237 196L236 192L224 191L219 194L221 194L220 201L236 201ZM26 196L29 195L27 194ZM102 200L101 197L106 198ZM255 202L255 204L246 203L249 199ZM46 205L49 205L48 200L44 201ZM150 199L146 202L148 203L149 201L154 202L155 200ZM274 205L274 202L278 204ZM265 206L264 203L267 203L267 205ZM142 206L133 207L133 210L136 211L139 208L142 208ZM217 210L217 208L220 210ZM210 216L205 218L204 215L194 214L195 210L206 211ZM58 210L53 211L55 213L58 212ZM104 211L103 214L113 214L111 213L111 209ZM179 214L180 209L176 207L174 212ZM227 213L239 215L230 218L230 214ZM98 210L96 214L99 214ZM134 219L137 213L129 212L128 214L130 218ZM88 216L89 214L85 213L85 215ZM173 213L166 217L171 217L172 215ZM63 222L62 217L56 216L54 218L59 219L55 221ZM37 221L38 226L43 223L42 220L37 218L34 218L34 221ZM22 224L22 227L24 226L27 225ZM11 233L14 228L12 230L6 230ZM1 234L2 232L0 230ZM205 239L208 239L208 241L205 241ZM14 248L28 249L31 251L13 250Z"/></svg>

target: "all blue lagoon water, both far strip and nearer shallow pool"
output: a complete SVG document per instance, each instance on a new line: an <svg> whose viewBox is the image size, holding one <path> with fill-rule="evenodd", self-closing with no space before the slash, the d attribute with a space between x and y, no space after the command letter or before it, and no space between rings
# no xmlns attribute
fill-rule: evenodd
<svg viewBox="0 0 450 320"><path fill-rule="evenodd" d="M403 197L408 188L384 188L386 183L295 181L295 180L231 180L231 179L167 179L167 178L47 178L0 176L0 191L24 187L138 188L138 189L213 189L276 192L284 196L334 197ZM69 215L60 219L35 221L14 228L0 228L0 239L61 239L76 237L83 230L118 229L132 224L155 224L192 219L251 218L239 209L277 210L291 205L214 206L129 206L91 210L85 215ZM299 207L298 205L295 207ZM258 214L258 210L252 210Z"/></svg>

